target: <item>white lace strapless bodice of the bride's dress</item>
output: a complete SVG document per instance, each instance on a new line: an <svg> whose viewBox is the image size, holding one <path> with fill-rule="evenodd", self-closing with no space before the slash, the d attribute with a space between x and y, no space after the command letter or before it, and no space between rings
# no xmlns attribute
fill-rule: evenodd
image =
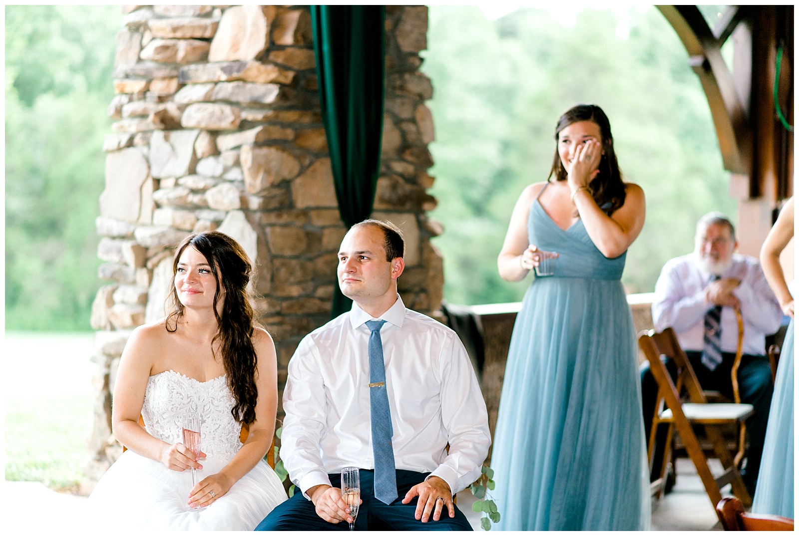
<svg viewBox="0 0 799 536"><path fill-rule="evenodd" d="M230 459L241 447L241 425L230 413L234 404L225 375L200 382L164 371L147 380L141 415L150 435L173 444L183 441L183 415L198 411L202 451L209 457Z"/></svg>

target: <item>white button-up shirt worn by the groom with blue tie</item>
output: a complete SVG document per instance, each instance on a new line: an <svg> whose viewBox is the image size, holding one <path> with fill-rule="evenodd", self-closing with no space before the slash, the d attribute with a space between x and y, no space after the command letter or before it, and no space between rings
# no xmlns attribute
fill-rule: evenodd
<svg viewBox="0 0 799 536"><path fill-rule="evenodd" d="M280 458L304 494L343 467L375 467L368 320L378 319L353 303L306 335L288 363ZM455 332L399 296L379 320L396 468L431 472L455 494L479 477L491 445L471 361Z"/></svg>

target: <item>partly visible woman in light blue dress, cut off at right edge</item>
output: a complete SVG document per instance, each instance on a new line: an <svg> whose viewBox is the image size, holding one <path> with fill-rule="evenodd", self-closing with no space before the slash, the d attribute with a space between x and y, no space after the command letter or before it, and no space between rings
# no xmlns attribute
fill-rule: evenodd
<svg viewBox="0 0 799 536"><path fill-rule="evenodd" d="M793 296L785 284L780 253L793 238L793 197L785 204L760 250L765 279L780 301L782 312L791 317L782 343L769 424L757 475L752 511L793 518Z"/></svg>

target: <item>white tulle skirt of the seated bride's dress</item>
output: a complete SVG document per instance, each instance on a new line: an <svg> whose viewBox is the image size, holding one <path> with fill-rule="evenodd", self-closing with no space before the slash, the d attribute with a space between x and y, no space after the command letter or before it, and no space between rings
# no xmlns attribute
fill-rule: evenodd
<svg viewBox="0 0 799 536"><path fill-rule="evenodd" d="M202 462L197 482L225 467L227 459ZM280 478L263 461L210 506L191 510L190 470L169 470L126 451L97 482L86 502L86 522L95 530L253 530L286 500Z"/></svg>

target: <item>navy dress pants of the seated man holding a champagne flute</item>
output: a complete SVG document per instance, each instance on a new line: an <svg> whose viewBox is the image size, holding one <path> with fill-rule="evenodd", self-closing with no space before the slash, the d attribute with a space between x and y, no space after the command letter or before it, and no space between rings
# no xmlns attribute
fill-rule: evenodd
<svg viewBox="0 0 799 536"><path fill-rule="evenodd" d="M375 471L360 470L360 505L355 530L471 530L471 526L463 512L455 507L455 517L450 518L447 506L441 510L441 519L434 521L432 514L426 523L414 517L418 497L408 504L402 499L411 487L423 482L430 473L417 473L412 470L400 470L397 473L397 491L399 497L390 505L375 498ZM340 474L328 474L333 487L341 486ZM304 498L300 490L288 501L280 503L272 512L256 526L255 530L349 530L347 522L330 523L316 514L313 502Z"/></svg>

